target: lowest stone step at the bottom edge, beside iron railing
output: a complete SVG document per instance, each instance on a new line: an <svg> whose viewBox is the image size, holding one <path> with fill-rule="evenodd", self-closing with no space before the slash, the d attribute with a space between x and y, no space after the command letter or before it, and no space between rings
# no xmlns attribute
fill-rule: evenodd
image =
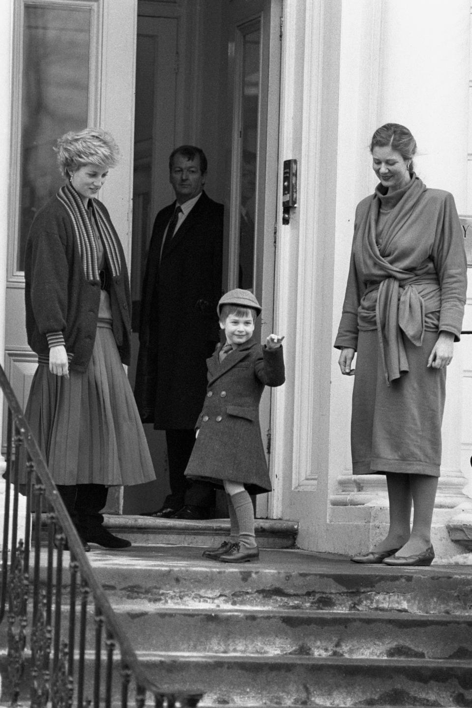
<svg viewBox="0 0 472 708"><path fill-rule="evenodd" d="M200 708L226 704L332 707L472 704L471 661L140 653L163 689L205 692Z"/></svg>

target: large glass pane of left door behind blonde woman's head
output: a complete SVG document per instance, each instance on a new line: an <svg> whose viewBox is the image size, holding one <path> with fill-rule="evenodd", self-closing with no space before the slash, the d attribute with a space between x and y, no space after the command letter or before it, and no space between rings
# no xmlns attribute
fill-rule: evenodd
<svg viewBox="0 0 472 708"><path fill-rule="evenodd" d="M33 218L63 183L55 141L86 127L91 9L25 5L18 270Z"/></svg>

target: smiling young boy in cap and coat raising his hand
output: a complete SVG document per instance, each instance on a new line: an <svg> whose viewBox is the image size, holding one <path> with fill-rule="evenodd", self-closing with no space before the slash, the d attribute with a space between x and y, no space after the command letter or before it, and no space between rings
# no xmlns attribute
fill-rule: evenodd
<svg viewBox="0 0 472 708"><path fill-rule="evenodd" d="M249 290L231 290L218 303L226 341L207 359L208 386L198 417L197 440L185 476L224 486L231 539L203 553L224 563L257 559L250 494L272 489L259 426L259 401L265 386L284 383L282 339L253 338L261 307Z"/></svg>

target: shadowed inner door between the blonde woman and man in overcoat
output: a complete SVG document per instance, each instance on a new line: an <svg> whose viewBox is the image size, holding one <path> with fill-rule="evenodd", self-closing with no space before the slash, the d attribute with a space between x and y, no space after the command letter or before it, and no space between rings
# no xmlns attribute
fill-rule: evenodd
<svg viewBox="0 0 472 708"><path fill-rule="evenodd" d="M132 386L139 350L142 278L152 224L156 213L174 199L168 180L168 156L175 147L178 19L167 16L166 11L168 8L162 3L138 4L131 262L133 333L132 365L128 371ZM159 508L170 491L165 433L154 430L151 423L144 425L144 433L156 480L124 489L126 514Z"/></svg>

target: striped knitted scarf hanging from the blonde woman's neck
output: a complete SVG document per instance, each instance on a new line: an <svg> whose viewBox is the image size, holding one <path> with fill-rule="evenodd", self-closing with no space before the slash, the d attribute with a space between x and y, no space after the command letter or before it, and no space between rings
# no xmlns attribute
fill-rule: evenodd
<svg viewBox="0 0 472 708"><path fill-rule="evenodd" d="M98 274L97 244L81 196L69 183L61 187L56 196L71 217L86 279L100 280L100 275ZM103 242L103 248L108 257L107 260L111 276L112 278L116 278L117 275L121 273L121 258L116 236L100 205L94 199L91 200L91 204L98 232Z"/></svg>

